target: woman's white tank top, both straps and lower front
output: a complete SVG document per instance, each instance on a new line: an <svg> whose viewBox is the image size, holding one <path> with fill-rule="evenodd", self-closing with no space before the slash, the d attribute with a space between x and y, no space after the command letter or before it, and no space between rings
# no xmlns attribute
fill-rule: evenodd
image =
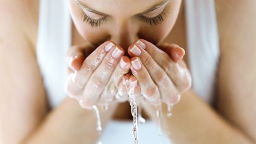
<svg viewBox="0 0 256 144"><path fill-rule="evenodd" d="M219 36L217 33L215 2L214 0L185 0L185 11L188 44L186 54L188 54L192 73L192 88L199 97L211 103L214 96L219 60ZM51 107L56 107L67 96L64 92L68 74L66 54L71 44L71 18L68 1L40 1L38 33L37 61L49 103ZM159 143L161 141L162 143L170 143L166 136L160 138L160 141L157 139L156 132L152 132L156 128L157 126L152 121L139 126L139 136L143 137L141 135L145 135L146 137L144 141L140 140L140 143ZM127 135L124 129L128 129ZM132 140L130 130L131 123L120 124L111 121L101 138L104 144L124 143L124 140L127 143L132 143L132 141L128 141ZM111 135L111 131L113 135ZM144 132L142 133L142 131ZM121 141L114 141L114 136Z"/></svg>

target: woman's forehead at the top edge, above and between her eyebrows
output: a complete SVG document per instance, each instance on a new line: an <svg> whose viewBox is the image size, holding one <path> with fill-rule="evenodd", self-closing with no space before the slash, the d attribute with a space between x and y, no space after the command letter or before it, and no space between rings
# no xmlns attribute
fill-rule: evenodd
<svg viewBox="0 0 256 144"><path fill-rule="evenodd" d="M86 6L109 15L135 15L166 0L80 0Z"/></svg>

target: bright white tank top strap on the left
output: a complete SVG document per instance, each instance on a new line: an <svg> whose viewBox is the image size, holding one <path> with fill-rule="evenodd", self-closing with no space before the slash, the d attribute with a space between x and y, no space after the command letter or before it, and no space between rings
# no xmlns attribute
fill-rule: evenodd
<svg viewBox="0 0 256 144"><path fill-rule="evenodd" d="M68 1L40 0L37 61L51 106L65 95L66 54L71 42Z"/></svg>

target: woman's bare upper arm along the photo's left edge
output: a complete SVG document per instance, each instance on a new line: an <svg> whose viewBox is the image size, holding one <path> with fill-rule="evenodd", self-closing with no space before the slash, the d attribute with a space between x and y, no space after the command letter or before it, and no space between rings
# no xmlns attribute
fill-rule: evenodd
<svg viewBox="0 0 256 144"><path fill-rule="evenodd" d="M0 143L21 143L46 114L25 2L0 0Z"/></svg>

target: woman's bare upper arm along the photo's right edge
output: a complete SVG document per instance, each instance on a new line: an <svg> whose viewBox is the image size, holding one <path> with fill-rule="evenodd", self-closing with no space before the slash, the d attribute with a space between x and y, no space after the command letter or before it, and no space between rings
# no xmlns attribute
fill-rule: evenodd
<svg viewBox="0 0 256 144"><path fill-rule="evenodd" d="M217 109L256 141L256 1L217 0L221 57Z"/></svg>

